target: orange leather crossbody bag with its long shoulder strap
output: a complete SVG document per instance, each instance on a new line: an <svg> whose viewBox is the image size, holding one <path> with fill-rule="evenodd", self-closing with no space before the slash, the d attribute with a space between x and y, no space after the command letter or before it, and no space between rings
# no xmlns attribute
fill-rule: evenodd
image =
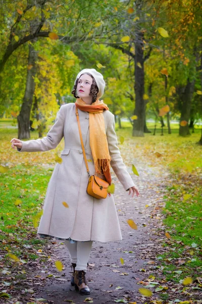
<svg viewBox="0 0 202 304"><path fill-rule="evenodd" d="M79 113L78 113L77 107L76 107L76 119L78 122L79 136L80 136L81 146L82 146L82 150L83 150L83 157L84 157L84 161L85 161L85 165L86 165L86 170L88 173L88 185L87 185L87 189L86 189L87 194L89 194L90 196L92 196L96 199L106 199L107 195L108 195L109 183L107 181L103 180L102 178L99 178L98 176L90 175L90 171L89 171L88 163L87 163L87 159L86 159L86 154L85 154L85 148L83 145L81 127L80 127L80 122L79 122Z"/></svg>

